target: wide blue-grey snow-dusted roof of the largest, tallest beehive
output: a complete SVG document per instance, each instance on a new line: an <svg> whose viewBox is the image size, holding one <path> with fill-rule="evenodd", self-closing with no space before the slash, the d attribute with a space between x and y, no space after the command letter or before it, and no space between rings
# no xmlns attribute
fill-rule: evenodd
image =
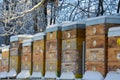
<svg viewBox="0 0 120 80"><path fill-rule="evenodd" d="M104 24L104 23L120 24L120 16L118 15L99 16L95 18L89 18L86 21L87 26L96 25L96 24Z"/></svg>

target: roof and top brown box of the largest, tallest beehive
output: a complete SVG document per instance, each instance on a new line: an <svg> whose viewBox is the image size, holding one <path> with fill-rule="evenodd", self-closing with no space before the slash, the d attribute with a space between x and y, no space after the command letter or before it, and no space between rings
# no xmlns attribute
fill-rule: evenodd
<svg viewBox="0 0 120 80"><path fill-rule="evenodd" d="M110 27L119 26L119 16L100 16L87 19L86 37L94 35L105 35Z"/></svg>

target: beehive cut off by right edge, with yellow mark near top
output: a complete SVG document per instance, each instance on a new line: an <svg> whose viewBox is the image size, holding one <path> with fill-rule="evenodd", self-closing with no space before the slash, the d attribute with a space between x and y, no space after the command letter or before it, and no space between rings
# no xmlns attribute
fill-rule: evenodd
<svg viewBox="0 0 120 80"><path fill-rule="evenodd" d="M120 68L120 27L113 27L108 32L108 71Z"/></svg>

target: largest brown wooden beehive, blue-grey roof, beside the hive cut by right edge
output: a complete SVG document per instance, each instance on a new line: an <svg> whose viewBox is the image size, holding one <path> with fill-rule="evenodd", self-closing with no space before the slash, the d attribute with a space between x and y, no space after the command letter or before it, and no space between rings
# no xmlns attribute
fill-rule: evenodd
<svg viewBox="0 0 120 80"><path fill-rule="evenodd" d="M86 22L86 70L107 72L108 29L120 25L118 16L100 16ZM98 65L98 66L97 66ZM100 66L99 66L100 65ZM101 67L103 65L103 67Z"/></svg>

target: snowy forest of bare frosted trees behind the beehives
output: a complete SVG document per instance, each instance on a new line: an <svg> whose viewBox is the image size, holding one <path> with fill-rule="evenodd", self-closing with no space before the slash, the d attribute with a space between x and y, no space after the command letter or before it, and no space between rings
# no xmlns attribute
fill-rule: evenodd
<svg viewBox="0 0 120 80"><path fill-rule="evenodd" d="M120 0L0 0L0 44L16 34L35 34L63 21L120 12Z"/></svg>

